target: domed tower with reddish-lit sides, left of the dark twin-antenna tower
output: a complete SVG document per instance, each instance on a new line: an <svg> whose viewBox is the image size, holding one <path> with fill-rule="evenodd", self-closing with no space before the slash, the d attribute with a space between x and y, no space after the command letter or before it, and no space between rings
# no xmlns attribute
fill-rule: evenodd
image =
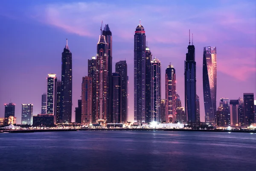
<svg viewBox="0 0 256 171"><path fill-rule="evenodd" d="M166 122L176 122L176 74L173 65L166 69Z"/></svg>

